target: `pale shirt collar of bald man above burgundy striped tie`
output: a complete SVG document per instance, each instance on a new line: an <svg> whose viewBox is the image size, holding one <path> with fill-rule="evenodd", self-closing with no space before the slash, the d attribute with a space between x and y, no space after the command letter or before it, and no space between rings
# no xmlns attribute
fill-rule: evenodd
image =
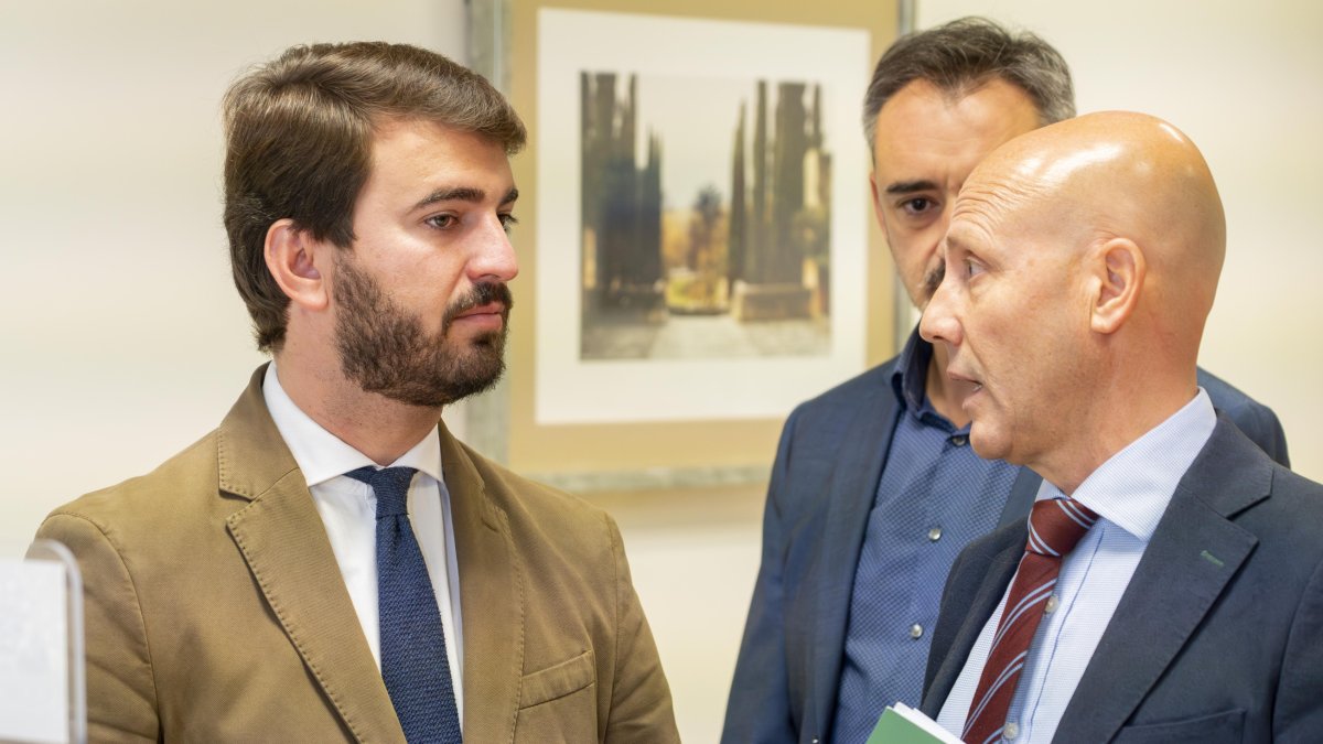
<svg viewBox="0 0 1323 744"><path fill-rule="evenodd" d="M1072 498L1147 543L1215 426L1217 413L1199 388L1192 401L1090 473ZM1044 481L1037 499L1061 495Z"/></svg>

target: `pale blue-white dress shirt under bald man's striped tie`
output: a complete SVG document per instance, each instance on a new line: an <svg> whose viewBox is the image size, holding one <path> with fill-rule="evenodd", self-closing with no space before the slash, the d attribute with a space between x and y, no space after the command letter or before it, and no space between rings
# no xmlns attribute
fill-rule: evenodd
<svg viewBox="0 0 1323 744"><path fill-rule="evenodd" d="M1050 741L1056 735L1061 715L1117 612L1121 596L1176 492L1176 485L1216 425L1213 404L1200 388L1191 402L1114 454L1072 494L1073 499L1098 512L1098 522L1061 564L1053 594L1056 608L1043 617L1035 631L1028 662L1007 714L1005 740L1016 744ZM1046 481L1039 487L1039 500L1060 496L1061 490ZM1008 585L1007 593L1009 590ZM1003 593L938 715L942 728L957 736L964 729L970 702L1004 608Z"/></svg>

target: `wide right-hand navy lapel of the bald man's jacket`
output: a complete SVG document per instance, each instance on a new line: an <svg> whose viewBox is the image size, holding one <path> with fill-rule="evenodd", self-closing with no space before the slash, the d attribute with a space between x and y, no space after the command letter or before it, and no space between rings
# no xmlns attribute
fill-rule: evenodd
<svg viewBox="0 0 1323 744"><path fill-rule="evenodd" d="M1271 477L1267 458L1218 421L1176 487L1056 741L1107 741L1130 719L1258 544L1230 518L1267 498Z"/></svg>

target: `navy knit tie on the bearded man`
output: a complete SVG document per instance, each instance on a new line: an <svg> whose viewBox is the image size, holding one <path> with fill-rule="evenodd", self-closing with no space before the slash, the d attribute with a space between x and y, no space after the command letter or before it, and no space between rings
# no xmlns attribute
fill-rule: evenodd
<svg viewBox="0 0 1323 744"><path fill-rule="evenodd" d="M409 524L413 467L360 467L347 473L377 495L377 610L381 678L405 739L459 744L459 711L446 659L437 594Z"/></svg>

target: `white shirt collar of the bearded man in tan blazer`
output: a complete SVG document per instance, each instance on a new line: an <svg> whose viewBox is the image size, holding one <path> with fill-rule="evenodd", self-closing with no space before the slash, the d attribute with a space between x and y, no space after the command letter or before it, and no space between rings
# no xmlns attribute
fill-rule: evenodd
<svg viewBox="0 0 1323 744"><path fill-rule="evenodd" d="M280 432L286 446L290 447L290 454L294 455L294 462L303 471L303 479L310 488L351 470L376 465L372 458L323 429L320 424L295 405L284 388L280 387L275 361L266 368L266 376L262 379L262 397L266 398L271 420L275 421L275 428ZM392 467L413 467L433 477L437 482L443 482L441 477L441 434L433 428L421 442L390 465Z"/></svg>

